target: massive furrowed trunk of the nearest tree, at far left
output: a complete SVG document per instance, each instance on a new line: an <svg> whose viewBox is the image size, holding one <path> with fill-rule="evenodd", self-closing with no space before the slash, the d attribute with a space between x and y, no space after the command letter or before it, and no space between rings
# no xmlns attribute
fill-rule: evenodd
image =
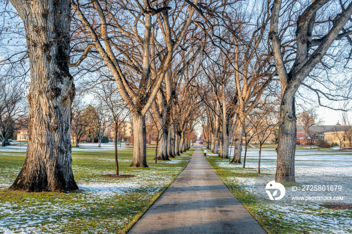
<svg viewBox="0 0 352 234"><path fill-rule="evenodd" d="M12 1L24 21L31 70L28 147L11 190L78 189L71 159L70 1Z"/></svg>

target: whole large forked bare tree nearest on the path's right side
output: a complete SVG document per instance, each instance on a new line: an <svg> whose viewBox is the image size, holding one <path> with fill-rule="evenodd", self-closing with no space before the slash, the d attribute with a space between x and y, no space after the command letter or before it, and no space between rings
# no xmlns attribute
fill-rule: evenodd
<svg viewBox="0 0 352 234"><path fill-rule="evenodd" d="M351 34L351 31L347 23L352 14L352 3L349 1L342 3L340 1L340 12L337 12L330 9L336 7L336 5L329 5L329 2L331 1L315 0L308 6L301 5L299 1L282 4L281 0L276 0L273 3L269 37L272 41L274 60L281 82L279 145L277 148L278 161L276 170L276 180L278 181L295 181L297 132L295 94L300 84L316 65L322 61L323 56L335 40L343 37L347 37L350 40L348 35ZM280 12L282 8L287 10L284 14ZM297 8L301 9L297 10ZM319 11L330 15L327 15L324 19L319 19L317 17L320 14ZM294 12L297 12L296 16L294 16ZM297 19L297 22L294 19ZM295 23L295 36L286 37L291 33L286 26L291 26ZM324 30L320 30L321 28L324 28ZM317 34L314 35L314 33ZM287 38L288 41L283 41ZM285 47L284 43L290 45L291 50L282 50ZM292 46L293 43L295 43L294 46ZM293 64L290 61L293 61ZM318 89L314 91L319 93Z"/></svg>

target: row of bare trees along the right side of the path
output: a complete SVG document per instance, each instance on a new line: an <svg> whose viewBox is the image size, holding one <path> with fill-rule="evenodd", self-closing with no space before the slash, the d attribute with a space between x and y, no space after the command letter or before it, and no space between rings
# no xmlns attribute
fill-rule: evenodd
<svg viewBox="0 0 352 234"><path fill-rule="evenodd" d="M204 56L209 62L202 64L212 93L203 98L203 132L214 153L220 146L223 158L228 157L233 135L232 162L241 163L243 125L251 120L249 114L256 108L265 110L263 106L270 106L278 97L279 115L272 117L272 122L279 123L276 179L295 181L295 97L302 95L297 91L300 87L311 90L322 106L327 105L323 98L329 102L349 100L349 87L342 84L351 79L331 79L330 70L349 69L350 54L338 53L336 48L340 52L350 48L352 3L263 1L255 6L240 5L232 12L235 16L223 11L225 23L212 23L222 29L222 35L218 46ZM343 66L338 66L341 61ZM306 97L304 101L309 102Z"/></svg>

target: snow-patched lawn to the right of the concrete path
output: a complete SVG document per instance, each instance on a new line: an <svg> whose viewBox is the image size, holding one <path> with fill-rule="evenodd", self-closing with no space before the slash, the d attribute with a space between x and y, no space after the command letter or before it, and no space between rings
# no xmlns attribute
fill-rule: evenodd
<svg viewBox="0 0 352 234"><path fill-rule="evenodd" d="M262 151L262 175L257 174L258 149L248 150L246 169L242 169L242 164L229 164L228 159L220 159L213 154L207 155L209 164L220 179L268 233L352 232L352 210L328 209L322 206L326 204L324 202L305 201L294 204L257 202L254 192L255 181L265 176L275 178L274 149ZM296 177L320 176L335 180L337 178L338 181L351 184L351 152L301 148L296 152L295 164ZM350 197L350 194L348 195ZM350 203L350 200L345 202Z"/></svg>

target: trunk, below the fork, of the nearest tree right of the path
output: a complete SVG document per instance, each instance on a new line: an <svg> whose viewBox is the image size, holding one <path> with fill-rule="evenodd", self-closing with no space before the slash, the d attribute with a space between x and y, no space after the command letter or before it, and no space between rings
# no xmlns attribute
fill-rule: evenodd
<svg viewBox="0 0 352 234"><path fill-rule="evenodd" d="M278 160L275 180L295 182L296 109L293 95L283 94L280 105Z"/></svg>

